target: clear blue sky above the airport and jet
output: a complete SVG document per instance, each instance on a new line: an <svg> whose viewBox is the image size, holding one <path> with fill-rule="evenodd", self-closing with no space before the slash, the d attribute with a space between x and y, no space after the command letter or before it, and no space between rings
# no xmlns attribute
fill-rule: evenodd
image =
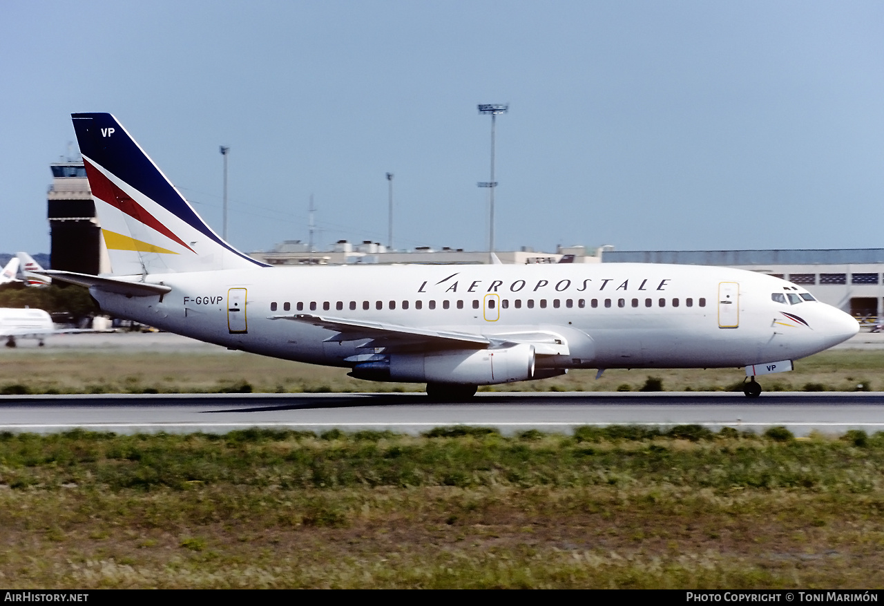
<svg viewBox="0 0 884 606"><path fill-rule="evenodd" d="M0 250L49 250L70 114L110 111L230 240L878 248L884 4L19 2L0 8ZM74 149L76 149L74 145Z"/></svg>

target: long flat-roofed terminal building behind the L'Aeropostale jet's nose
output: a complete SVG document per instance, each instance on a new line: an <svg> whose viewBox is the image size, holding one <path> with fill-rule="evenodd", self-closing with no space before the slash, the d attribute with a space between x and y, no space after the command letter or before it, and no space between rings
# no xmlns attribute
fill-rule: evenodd
<svg viewBox="0 0 884 606"><path fill-rule="evenodd" d="M768 273L807 288L855 318L884 318L884 249L606 250L602 263L723 265Z"/></svg>

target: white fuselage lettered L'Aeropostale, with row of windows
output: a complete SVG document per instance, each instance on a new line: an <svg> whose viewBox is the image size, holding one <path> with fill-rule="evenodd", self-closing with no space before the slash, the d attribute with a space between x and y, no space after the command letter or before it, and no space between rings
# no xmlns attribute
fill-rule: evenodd
<svg viewBox="0 0 884 606"><path fill-rule="evenodd" d="M764 364L810 356L858 330L856 320L813 301L803 288L724 267L324 266L148 278L171 292L162 299L96 288L92 294L105 311L173 333L340 366L353 365L347 359L364 353L360 346L368 340L330 341L335 330L279 317L309 314L504 339L552 335L561 347L538 356L537 366L557 369ZM240 301L244 311L232 307Z"/></svg>

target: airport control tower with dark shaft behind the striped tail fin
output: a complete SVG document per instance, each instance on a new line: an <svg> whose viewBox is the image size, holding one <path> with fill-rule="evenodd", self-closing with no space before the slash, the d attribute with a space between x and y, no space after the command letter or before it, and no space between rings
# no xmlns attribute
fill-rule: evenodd
<svg viewBox="0 0 884 606"><path fill-rule="evenodd" d="M50 165L47 218L50 221L52 269L80 273L110 272L101 225L82 160Z"/></svg>

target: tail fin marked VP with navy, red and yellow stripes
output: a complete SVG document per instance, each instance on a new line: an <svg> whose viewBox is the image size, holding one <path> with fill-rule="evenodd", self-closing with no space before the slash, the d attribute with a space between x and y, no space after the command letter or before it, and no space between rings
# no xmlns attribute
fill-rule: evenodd
<svg viewBox="0 0 884 606"><path fill-rule="evenodd" d="M113 274L265 266L221 239L110 113L74 113Z"/></svg>

